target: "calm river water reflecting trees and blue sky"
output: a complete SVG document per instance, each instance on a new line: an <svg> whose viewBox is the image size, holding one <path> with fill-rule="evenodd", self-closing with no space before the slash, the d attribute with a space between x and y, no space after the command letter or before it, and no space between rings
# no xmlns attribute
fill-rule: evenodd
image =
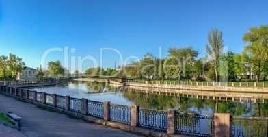
<svg viewBox="0 0 268 137"><path fill-rule="evenodd" d="M72 81L52 87L34 88L38 92L70 95L76 98L87 98L92 101L110 101L121 105L139 105L142 108L159 110L177 109L180 112L213 114L230 112L235 116L268 116L268 103L215 101L211 99L193 99L170 97L166 95L146 94L141 92L120 91L101 82Z"/></svg>

